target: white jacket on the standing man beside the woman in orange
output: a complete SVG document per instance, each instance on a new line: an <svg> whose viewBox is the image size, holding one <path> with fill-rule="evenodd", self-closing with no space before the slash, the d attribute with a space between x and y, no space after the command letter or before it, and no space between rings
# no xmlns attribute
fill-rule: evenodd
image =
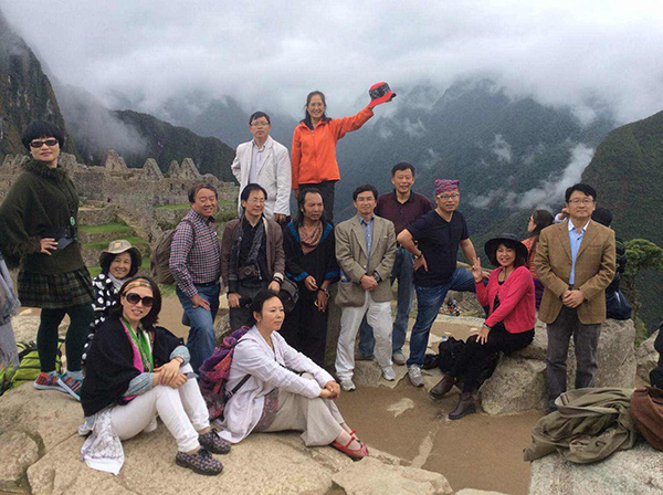
<svg viewBox="0 0 663 495"><path fill-rule="evenodd" d="M253 140L242 143L232 161L232 173L240 182L240 194L249 183L249 171L251 170ZM282 144L267 137L265 141L265 156L257 171L257 183L267 191L265 202L265 215L274 218L274 213L290 214L290 191L292 185L291 161L287 148ZM238 198L238 215L241 217L241 200Z"/></svg>

